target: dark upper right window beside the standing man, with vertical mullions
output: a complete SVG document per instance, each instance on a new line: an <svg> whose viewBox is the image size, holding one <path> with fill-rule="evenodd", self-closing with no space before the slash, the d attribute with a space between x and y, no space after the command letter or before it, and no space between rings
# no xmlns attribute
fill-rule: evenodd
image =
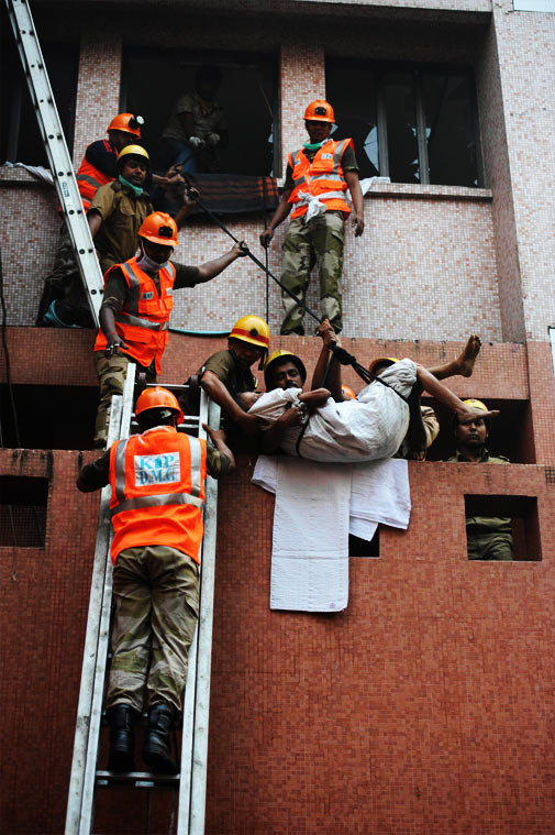
<svg viewBox="0 0 555 835"><path fill-rule="evenodd" d="M481 185L473 73L464 67L331 61L335 139L352 136L360 177Z"/></svg>

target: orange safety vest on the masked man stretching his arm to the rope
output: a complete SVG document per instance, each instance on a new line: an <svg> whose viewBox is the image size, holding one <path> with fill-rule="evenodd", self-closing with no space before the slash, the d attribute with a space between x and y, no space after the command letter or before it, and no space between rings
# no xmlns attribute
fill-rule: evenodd
<svg viewBox="0 0 555 835"><path fill-rule="evenodd" d="M129 345L129 349L121 350L145 367L155 360L156 373L159 374L162 354L168 341L169 314L174 307L171 294L176 268L168 262L167 267L159 271L159 295L153 278L137 266L136 256L107 270L104 288L112 270L122 271L129 287L123 308L115 314L115 331ZM107 338L99 330L95 351L103 351L107 344Z"/></svg>

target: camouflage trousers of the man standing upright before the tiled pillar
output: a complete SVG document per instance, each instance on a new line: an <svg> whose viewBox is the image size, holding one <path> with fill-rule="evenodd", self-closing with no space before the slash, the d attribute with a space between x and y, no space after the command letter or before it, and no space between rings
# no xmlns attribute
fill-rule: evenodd
<svg viewBox="0 0 555 835"><path fill-rule="evenodd" d="M295 218L284 241L281 263L281 282L301 301L307 296L310 273L317 266L322 317L330 320L336 333L343 328L341 273L344 241L345 221L341 211L326 211L308 222L303 216ZM286 311L281 333L304 333L304 310L285 290L281 290L281 300Z"/></svg>

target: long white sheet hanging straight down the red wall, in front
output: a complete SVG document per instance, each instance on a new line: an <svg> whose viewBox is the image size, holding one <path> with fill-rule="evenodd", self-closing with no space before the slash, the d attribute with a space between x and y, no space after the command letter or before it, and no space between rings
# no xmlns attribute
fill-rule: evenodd
<svg viewBox="0 0 555 835"><path fill-rule="evenodd" d="M270 608L341 612L348 600L351 468L282 458L276 469Z"/></svg>

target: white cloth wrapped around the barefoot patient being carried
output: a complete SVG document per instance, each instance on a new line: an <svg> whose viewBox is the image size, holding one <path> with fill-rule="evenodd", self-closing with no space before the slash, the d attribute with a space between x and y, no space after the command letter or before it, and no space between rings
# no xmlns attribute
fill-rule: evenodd
<svg viewBox="0 0 555 835"><path fill-rule="evenodd" d="M312 411L300 444L302 458L355 463L390 458L397 452L409 427L409 407L399 394L410 394L417 366L412 360L401 360L380 376L396 391L374 382L363 388L356 400L336 403L330 397ZM300 388L276 388L263 394L249 414L267 421L268 428L300 393ZM297 454L299 432L300 427L292 427L284 433L281 449L290 455Z"/></svg>

